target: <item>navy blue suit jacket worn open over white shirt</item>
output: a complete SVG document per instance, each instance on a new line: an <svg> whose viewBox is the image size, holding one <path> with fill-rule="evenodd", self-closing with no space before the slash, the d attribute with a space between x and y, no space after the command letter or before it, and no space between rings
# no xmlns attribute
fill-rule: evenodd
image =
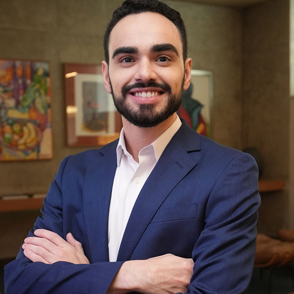
<svg viewBox="0 0 294 294"><path fill-rule="evenodd" d="M187 293L245 293L260 204L254 159L183 123L142 188L118 261L110 263L108 212L117 143L62 161L29 233L45 228L65 238L72 232L91 264L32 263L21 249L5 267L6 294L105 294L124 261L166 253L193 258Z"/></svg>

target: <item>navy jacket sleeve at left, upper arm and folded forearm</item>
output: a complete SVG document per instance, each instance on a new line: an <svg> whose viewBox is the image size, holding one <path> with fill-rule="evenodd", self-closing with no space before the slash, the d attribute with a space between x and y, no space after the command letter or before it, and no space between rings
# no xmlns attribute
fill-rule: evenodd
<svg viewBox="0 0 294 294"><path fill-rule="evenodd" d="M62 174L68 158L59 170L44 199L39 217L28 236L37 228L46 228L62 236ZM69 262L44 264L31 262L20 252L16 260L5 266L4 288L6 294L105 294L123 262L98 262L75 265Z"/></svg>

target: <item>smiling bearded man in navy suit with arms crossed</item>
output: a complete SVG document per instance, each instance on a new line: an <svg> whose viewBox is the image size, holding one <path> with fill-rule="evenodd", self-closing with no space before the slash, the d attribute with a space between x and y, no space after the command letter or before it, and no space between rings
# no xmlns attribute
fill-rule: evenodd
<svg viewBox="0 0 294 294"><path fill-rule="evenodd" d="M6 294L245 293L257 168L177 117L192 67L179 13L126 0L104 48L121 137L63 160L42 217L5 268Z"/></svg>

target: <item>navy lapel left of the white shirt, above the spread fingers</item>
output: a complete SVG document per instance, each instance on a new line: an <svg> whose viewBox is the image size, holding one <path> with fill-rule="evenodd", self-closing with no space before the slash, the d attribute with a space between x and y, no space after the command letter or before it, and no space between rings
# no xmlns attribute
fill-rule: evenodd
<svg viewBox="0 0 294 294"><path fill-rule="evenodd" d="M117 141L99 150L85 176L84 214L92 261L109 261L108 214L113 179L117 167Z"/></svg>

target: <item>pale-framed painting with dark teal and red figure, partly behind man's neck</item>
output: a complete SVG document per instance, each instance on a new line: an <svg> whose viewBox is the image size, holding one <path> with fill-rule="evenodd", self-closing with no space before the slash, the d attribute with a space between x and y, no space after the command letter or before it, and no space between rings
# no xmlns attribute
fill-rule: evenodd
<svg viewBox="0 0 294 294"><path fill-rule="evenodd" d="M191 84L183 92L178 115L199 134L211 137L213 107L213 73L192 70Z"/></svg>

